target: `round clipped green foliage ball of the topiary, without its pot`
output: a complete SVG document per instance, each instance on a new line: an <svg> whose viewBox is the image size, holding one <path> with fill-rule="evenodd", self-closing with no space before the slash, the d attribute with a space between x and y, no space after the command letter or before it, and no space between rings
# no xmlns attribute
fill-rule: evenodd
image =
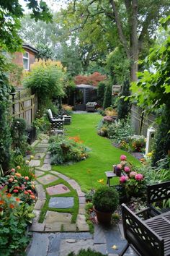
<svg viewBox="0 0 170 256"><path fill-rule="evenodd" d="M114 212L119 203L119 195L112 187L102 186L94 193L94 208L103 213Z"/></svg>

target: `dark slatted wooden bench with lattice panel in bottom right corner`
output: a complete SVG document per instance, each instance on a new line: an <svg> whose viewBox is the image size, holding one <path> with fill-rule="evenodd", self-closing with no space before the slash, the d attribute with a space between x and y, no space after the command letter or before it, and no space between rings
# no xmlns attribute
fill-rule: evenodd
<svg viewBox="0 0 170 256"><path fill-rule="evenodd" d="M159 218L159 219L157 219ZM125 204L122 204L122 224L128 244L119 256L125 254L128 247L133 247L143 256L170 255L170 212L146 221L140 219Z"/></svg>

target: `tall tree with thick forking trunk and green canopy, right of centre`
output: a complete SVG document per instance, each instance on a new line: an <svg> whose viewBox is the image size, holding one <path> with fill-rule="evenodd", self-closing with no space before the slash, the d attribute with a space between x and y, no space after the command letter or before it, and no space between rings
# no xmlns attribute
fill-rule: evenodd
<svg viewBox="0 0 170 256"><path fill-rule="evenodd" d="M150 43L159 18L169 10L169 0L72 0L62 14L68 33L79 30L80 42L98 51L120 44L130 60L130 79L135 81L138 56Z"/></svg>

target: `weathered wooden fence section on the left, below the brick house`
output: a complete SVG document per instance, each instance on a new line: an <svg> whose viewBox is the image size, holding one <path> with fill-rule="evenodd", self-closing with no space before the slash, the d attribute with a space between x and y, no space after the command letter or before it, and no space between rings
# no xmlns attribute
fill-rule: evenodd
<svg viewBox="0 0 170 256"><path fill-rule="evenodd" d="M15 95L11 95L10 99L12 101L10 114L25 119L29 125L32 124L35 119L35 95L31 95L29 89L19 90Z"/></svg>

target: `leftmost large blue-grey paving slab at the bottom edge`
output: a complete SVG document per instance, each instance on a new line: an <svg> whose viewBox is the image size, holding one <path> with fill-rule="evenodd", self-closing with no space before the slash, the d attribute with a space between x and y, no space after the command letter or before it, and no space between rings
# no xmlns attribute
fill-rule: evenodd
<svg viewBox="0 0 170 256"><path fill-rule="evenodd" d="M34 233L27 256L46 256L48 252L48 234Z"/></svg>

